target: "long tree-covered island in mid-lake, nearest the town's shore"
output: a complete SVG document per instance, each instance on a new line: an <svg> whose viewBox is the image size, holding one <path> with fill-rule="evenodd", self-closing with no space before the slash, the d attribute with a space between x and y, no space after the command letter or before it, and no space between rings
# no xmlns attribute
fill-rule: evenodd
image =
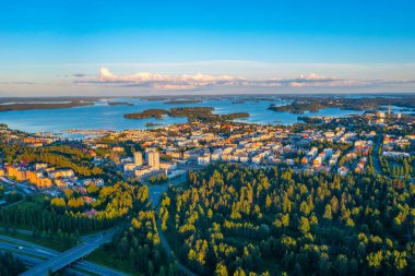
<svg viewBox="0 0 415 276"><path fill-rule="evenodd" d="M236 112L228 115L215 115L212 111L213 107L174 107L170 109L147 109L137 113L126 113L123 117L127 119L146 119L156 118L161 119L162 116L167 115L170 117L187 117L189 121L229 121L237 118L249 117L247 112Z"/></svg>

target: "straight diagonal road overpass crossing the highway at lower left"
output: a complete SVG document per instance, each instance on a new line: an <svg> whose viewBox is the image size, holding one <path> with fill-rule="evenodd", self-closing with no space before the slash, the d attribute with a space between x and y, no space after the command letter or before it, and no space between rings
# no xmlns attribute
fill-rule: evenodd
<svg viewBox="0 0 415 276"><path fill-rule="evenodd" d="M111 240L114 231L108 231L105 235L99 235L98 237L91 237L87 239L84 239L79 245L63 252L59 253L49 260L36 265L32 269L22 273L22 276L42 276L42 275L48 275L48 272L57 272L67 265L86 256L97 248L99 248L102 244L109 242ZM82 263L81 266L97 271L104 271L104 267L100 267L98 265L92 264L92 263ZM83 268L84 269L84 268ZM97 273L99 275L107 275ZM121 274L112 274L112 275L121 275Z"/></svg>

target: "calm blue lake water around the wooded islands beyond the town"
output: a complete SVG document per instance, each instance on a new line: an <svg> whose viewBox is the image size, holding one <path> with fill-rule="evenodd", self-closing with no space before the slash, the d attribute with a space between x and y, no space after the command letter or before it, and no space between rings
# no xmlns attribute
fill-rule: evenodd
<svg viewBox="0 0 415 276"><path fill-rule="evenodd" d="M111 98L110 101L127 101L134 106L109 106L107 100L95 101L94 106L73 107L66 109L24 110L0 112L0 122L7 123L11 129L26 132L66 132L70 129L91 130L105 129L120 131L126 129L147 129L147 122L162 125L182 123L186 118L164 117L163 119L124 119L124 113L140 112L150 108L168 109L171 107L214 107L215 113L249 112L249 118L240 121L250 123L292 124L297 122L299 115L276 112L268 110L271 104L285 105L287 101L271 98L270 100L247 100L235 104L237 98L210 99L197 104L165 104L166 100L145 100L139 98ZM337 108L322 109L319 112L306 112L305 116L346 116L361 113L354 110ZM66 134L69 135L69 134Z"/></svg>

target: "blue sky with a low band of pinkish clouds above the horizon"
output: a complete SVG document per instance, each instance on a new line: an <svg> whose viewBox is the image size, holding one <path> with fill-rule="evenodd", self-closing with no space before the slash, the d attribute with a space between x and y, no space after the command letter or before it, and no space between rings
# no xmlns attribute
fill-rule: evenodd
<svg viewBox="0 0 415 276"><path fill-rule="evenodd" d="M2 1L0 96L415 92L415 1Z"/></svg>

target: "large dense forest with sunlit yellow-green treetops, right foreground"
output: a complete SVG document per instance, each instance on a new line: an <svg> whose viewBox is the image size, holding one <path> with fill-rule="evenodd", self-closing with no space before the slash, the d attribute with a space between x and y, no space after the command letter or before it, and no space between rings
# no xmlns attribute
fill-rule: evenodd
<svg viewBox="0 0 415 276"><path fill-rule="evenodd" d="M199 275L414 275L415 187L402 182L211 165L170 187L161 224Z"/></svg>

